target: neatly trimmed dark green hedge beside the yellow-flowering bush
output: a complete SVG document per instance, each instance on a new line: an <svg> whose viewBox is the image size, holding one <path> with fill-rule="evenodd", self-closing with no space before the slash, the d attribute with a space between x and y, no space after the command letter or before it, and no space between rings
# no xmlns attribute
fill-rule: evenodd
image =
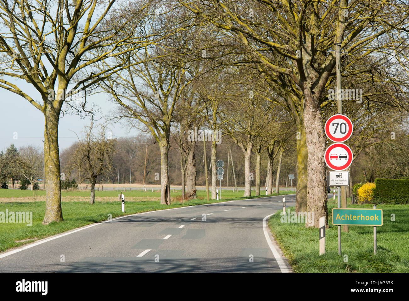
<svg viewBox="0 0 409 301"><path fill-rule="evenodd" d="M375 179L373 202L409 204L409 180Z"/></svg>

